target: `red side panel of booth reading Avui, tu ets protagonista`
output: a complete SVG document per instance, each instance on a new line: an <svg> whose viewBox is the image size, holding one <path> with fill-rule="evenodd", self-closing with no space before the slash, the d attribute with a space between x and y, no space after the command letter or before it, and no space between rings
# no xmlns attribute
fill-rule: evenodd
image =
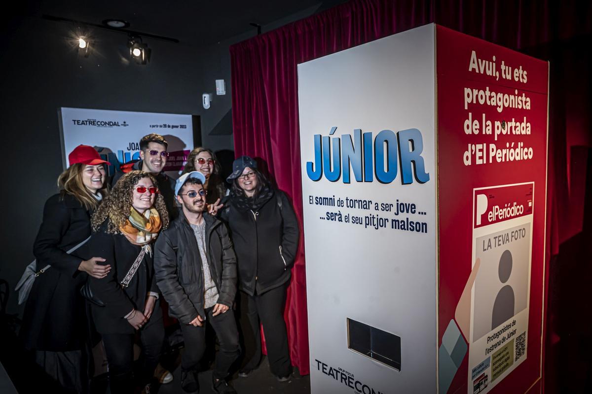
<svg viewBox="0 0 592 394"><path fill-rule="evenodd" d="M548 70L436 27L440 393L540 391Z"/></svg>

